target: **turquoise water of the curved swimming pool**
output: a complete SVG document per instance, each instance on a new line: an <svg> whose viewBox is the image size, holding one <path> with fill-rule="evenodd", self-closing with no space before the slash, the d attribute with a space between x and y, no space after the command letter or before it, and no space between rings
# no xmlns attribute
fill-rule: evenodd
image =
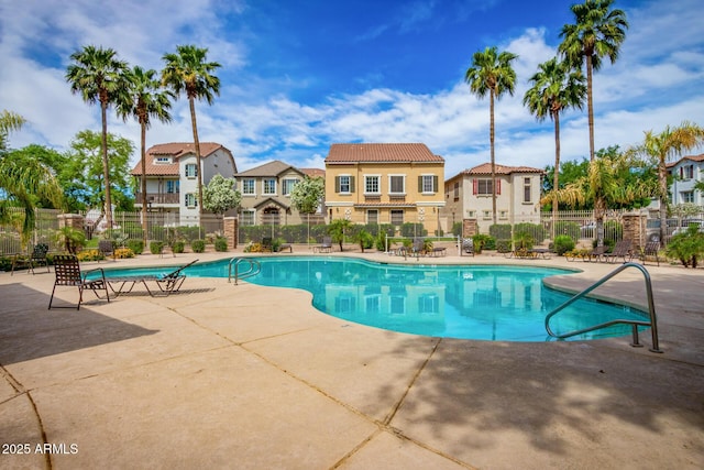
<svg viewBox="0 0 704 470"><path fill-rule="evenodd" d="M334 256L255 258L262 272L253 284L302 288L314 306L332 316L377 328L448 338L546 341L544 317L570 296L542 278L570 271L506 265L385 264ZM188 267L189 276L227 277L229 260ZM119 274L173 269L121 270ZM107 275L112 272L107 271ZM113 274L117 275L117 274ZM551 320L566 332L616 318L644 319L630 307L581 299ZM630 334L628 326L584 334L594 339Z"/></svg>

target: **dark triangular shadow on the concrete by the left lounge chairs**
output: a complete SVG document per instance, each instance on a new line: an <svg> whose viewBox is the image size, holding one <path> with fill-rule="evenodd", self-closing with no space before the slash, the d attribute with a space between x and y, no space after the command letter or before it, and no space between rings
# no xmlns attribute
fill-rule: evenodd
<svg viewBox="0 0 704 470"><path fill-rule="evenodd" d="M77 289L75 294L77 300ZM81 304L80 310L48 310L50 296L46 293L22 284L0 285L0 364L18 363L157 332L96 313L90 304L105 304L106 300L97 300L88 292L84 294L87 303ZM74 300L68 295L66 298ZM62 298L55 299L55 305L69 304Z"/></svg>

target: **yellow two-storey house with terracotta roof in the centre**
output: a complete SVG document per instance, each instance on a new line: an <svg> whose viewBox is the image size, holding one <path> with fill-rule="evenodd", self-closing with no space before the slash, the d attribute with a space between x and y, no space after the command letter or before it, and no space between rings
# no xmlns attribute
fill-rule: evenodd
<svg viewBox="0 0 704 470"><path fill-rule="evenodd" d="M444 160L422 143L337 143L326 162L330 220L422 223L435 234L444 205Z"/></svg>

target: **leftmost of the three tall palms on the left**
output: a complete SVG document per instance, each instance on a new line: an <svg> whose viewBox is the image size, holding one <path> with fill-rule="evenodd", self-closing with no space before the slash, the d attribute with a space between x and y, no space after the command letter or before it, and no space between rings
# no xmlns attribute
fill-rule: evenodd
<svg viewBox="0 0 704 470"><path fill-rule="evenodd" d="M108 165L108 107L127 99L125 75L128 64L117 58L111 48L84 46L70 55L74 63L66 69L66 81L74 94L80 94L88 103L100 102L102 120L102 172L106 182L106 220L112 228L112 199L110 197L110 175Z"/></svg>

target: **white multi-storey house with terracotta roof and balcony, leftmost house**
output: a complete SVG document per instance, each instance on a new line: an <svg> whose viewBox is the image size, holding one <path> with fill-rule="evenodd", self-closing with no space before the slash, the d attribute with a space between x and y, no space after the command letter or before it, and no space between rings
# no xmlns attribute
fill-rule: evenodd
<svg viewBox="0 0 704 470"><path fill-rule="evenodd" d="M232 152L215 142L200 142L204 186L215 175L231 178L238 168ZM142 207L142 163L132 170L136 179L135 207ZM146 151L146 199L151 211L174 216L182 226L199 225L198 161L193 142L153 145Z"/></svg>

